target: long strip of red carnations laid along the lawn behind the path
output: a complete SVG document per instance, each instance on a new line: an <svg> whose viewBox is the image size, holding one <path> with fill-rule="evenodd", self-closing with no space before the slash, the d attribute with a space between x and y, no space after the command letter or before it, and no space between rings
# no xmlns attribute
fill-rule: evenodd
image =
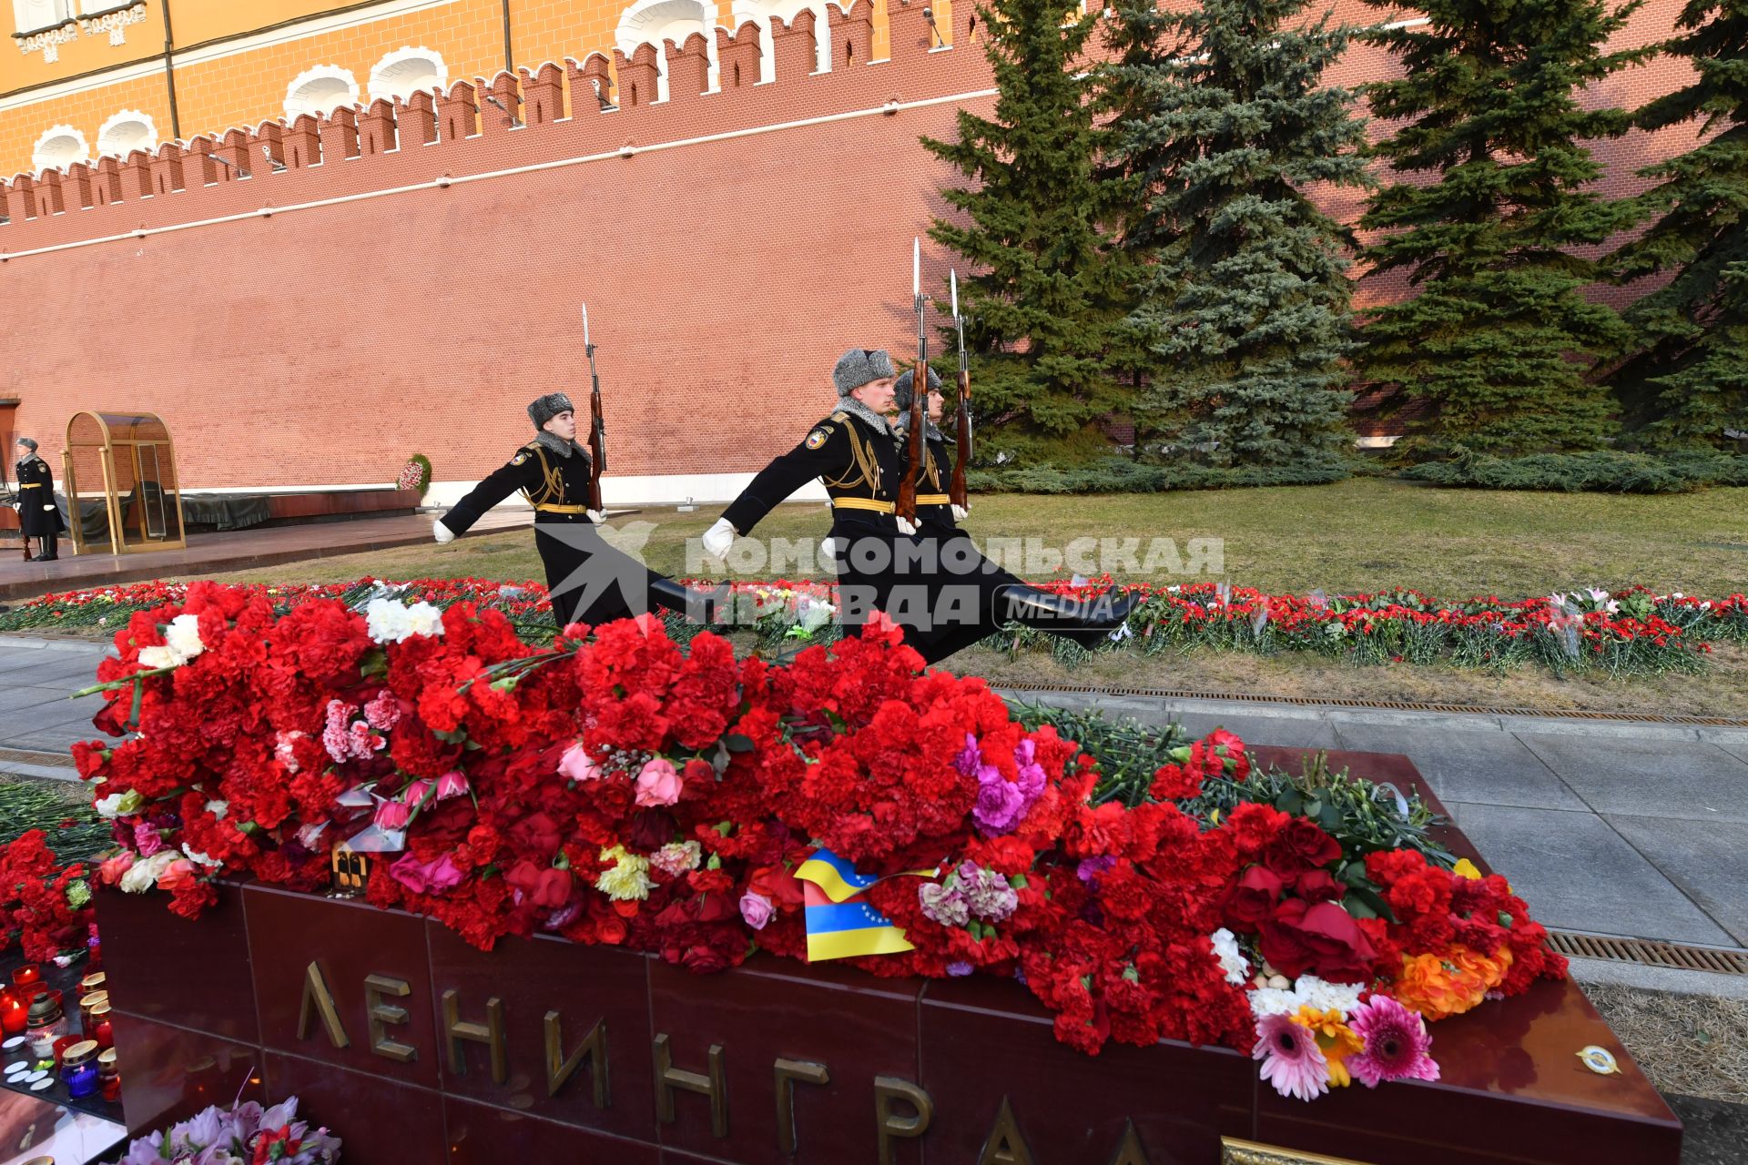
<svg viewBox="0 0 1748 1165"><path fill-rule="evenodd" d="M1227 583L1152 587L1091 582L1042 583L1066 594L1122 589L1140 594L1129 622L1103 650L1155 653L1183 648L1257 653L1309 651L1362 664L1454 664L1507 669L1543 665L1556 672L1606 671L1648 674L1697 671L1718 641L1748 641L1748 597L1711 601L1683 594L1580 589L1533 599L1496 596L1447 603L1418 590L1323 596L1266 594ZM453 603L505 611L538 622L549 610L538 583L481 578L259 587L280 610L295 603L379 592L420 597L439 608ZM0 629L108 625L136 610L178 603L184 583L100 587L33 599L0 615ZM767 643L830 641L836 592L830 583L776 580L736 583L736 603L722 620L755 629ZM1073 662L1084 650L1054 636L1012 627L993 641L1010 651L1047 650Z"/></svg>

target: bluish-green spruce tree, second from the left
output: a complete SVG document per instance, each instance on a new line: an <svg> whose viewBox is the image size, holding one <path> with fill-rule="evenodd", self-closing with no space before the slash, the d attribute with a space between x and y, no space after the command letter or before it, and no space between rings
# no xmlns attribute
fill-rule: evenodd
<svg viewBox="0 0 1748 1165"><path fill-rule="evenodd" d="M1320 84L1348 47L1306 0L1201 0L1117 12L1103 70L1113 161L1138 183L1126 320L1150 360L1138 442L1213 465L1327 463L1351 445L1346 232L1308 197L1367 185L1365 124Z"/></svg>

